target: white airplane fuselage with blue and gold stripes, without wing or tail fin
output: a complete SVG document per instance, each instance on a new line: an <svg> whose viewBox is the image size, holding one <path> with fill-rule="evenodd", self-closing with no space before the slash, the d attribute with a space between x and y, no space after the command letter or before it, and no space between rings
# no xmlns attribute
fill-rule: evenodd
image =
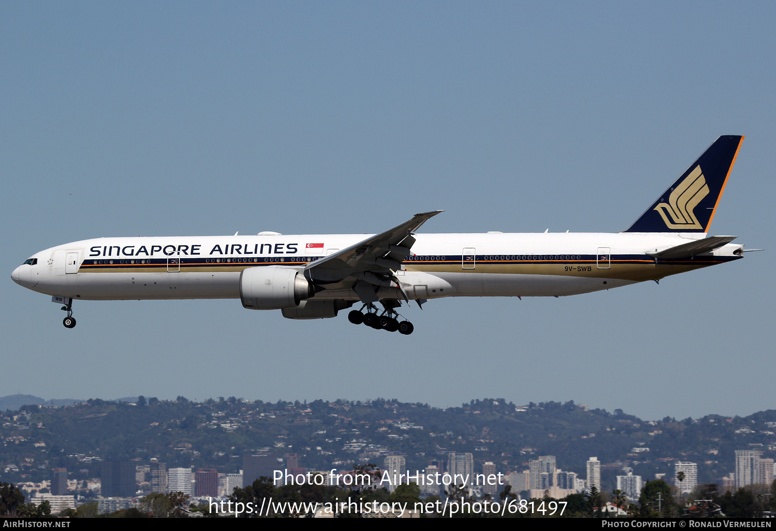
<svg viewBox="0 0 776 531"><path fill-rule="evenodd" d="M646 252L705 234L487 233L416 234L397 279L409 298L559 297L607 290L739 259L725 245L692 259L655 261ZM40 293L74 300L223 299L240 297L240 274L255 266L303 269L367 238L299 234L97 238L46 249L12 279ZM393 293L395 292L395 293ZM401 298L396 288L380 297ZM352 285L333 284L315 300L358 300Z"/></svg>

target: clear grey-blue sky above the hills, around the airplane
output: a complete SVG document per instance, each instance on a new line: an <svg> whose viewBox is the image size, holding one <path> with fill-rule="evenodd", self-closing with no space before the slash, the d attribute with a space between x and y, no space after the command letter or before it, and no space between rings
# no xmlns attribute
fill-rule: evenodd
<svg viewBox="0 0 776 531"><path fill-rule="evenodd" d="M0 394L776 408L772 2L6 2ZM560 299L432 301L413 335L238 300L12 283L100 236L620 231L744 134L733 264Z"/></svg>

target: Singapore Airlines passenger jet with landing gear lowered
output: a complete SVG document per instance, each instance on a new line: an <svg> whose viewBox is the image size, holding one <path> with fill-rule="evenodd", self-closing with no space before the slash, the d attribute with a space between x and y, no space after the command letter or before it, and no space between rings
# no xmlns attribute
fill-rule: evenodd
<svg viewBox="0 0 776 531"><path fill-rule="evenodd" d="M418 234L442 210L379 234L96 238L49 248L11 278L74 300L239 298L289 319L334 318L409 335L399 310L442 297L566 297L743 258L735 236L707 237L743 136L722 136L634 224L617 233ZM379 309L377 304L382 307ZM401 320L400 320L401 319Z"/></svg>

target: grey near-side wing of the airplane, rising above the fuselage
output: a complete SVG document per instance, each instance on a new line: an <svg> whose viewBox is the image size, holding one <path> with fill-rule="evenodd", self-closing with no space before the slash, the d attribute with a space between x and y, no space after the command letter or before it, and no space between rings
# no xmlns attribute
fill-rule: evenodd
<svg viewBox="0 0 776 531"><path fill-rule="evenodd" d="M444 210L417 213L403 224L370 236L324 259L310 262L304 269L305 276L322 283L339 282L352 276L376 286L388 286L393 271L400 269L401 262L410 254L415 243L412 233L440 212Z"/></svg>

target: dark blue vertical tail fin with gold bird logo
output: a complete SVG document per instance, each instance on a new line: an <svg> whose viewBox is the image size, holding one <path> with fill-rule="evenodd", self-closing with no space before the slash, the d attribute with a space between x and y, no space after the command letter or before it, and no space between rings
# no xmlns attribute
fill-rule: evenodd
<svg viewBox="0 0 776 531"><path fill-rule="evenodd" d="M717 138L624 232L708 232L742 141Z"/></svg>

